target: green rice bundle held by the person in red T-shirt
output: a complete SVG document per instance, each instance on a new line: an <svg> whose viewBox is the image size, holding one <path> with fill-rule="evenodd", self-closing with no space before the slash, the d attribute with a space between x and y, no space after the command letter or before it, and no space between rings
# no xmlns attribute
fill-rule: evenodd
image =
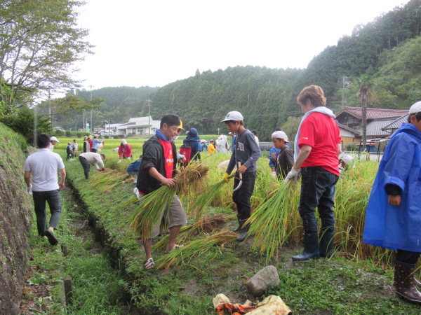
<svg viewBox="0 0 421 315"><path fill-rule="evenodd" d="M288 237L288 209L295 209L290 195L293 187L295 186L290 182L282 182L281 186L271 193L269 199L253 211L247 221L250 223L249 235L255 234L253 251L259 249L260 253L266 252L267 260L275 253L278 254L279 246Z"/></svg>

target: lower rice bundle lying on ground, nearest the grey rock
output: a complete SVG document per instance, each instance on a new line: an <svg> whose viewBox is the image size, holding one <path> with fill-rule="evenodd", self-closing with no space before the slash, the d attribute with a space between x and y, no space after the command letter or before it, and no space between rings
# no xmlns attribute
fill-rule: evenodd
<svg viewBox="0 0 421 315"><path fill-rule="evenodd" d="M191 260L192 258L201 255L201 253L208 251L208 249L214 245L226 244L230 241L234 241L237 236L238 233L236 232L223 230L214 235L209 235L204 239L196 239L184 247L177 248L156 260L156 268L169 269L172 265L180 265L185 263L185 260Z"/></svg>

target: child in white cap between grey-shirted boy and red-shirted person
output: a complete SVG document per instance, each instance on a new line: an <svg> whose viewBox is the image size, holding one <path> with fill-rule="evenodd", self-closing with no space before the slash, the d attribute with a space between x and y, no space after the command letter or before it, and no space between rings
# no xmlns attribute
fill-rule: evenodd
<svg viewBox="0 0 421 315"><path fill-rule="evenodd" d="M294 166L293 151L287 146L289 143L285 132L277 131L272 134L272 142L278 151L278 157L273 160L276 169L276 176L284 179Z"/></svg>

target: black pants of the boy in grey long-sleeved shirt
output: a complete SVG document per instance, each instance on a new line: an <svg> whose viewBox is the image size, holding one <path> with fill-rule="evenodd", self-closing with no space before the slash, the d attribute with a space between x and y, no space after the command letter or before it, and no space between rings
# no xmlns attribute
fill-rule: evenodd
<svg viewBox="0 0 421 315"><path fill-rule="evenodd" d="M237 206L237 211L239 213L240 220L247 220L250 218L251 208L250 208L250 197L253 195L254 185L256 181L256 171L243 173L243 183L239 190L232 193L232 201L235 202ZM239 173L235 173L234 178L234 189L239 185Z"/></svg>

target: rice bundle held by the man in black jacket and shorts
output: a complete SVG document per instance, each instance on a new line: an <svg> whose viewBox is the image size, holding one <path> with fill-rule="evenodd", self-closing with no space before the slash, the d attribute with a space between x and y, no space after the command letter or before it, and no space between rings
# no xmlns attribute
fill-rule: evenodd
<svg viewBox="0 0 421 315"><path fill-rule="evenodd" d="M130 227L138 232L145 241L151 235L154 225L158 223L163 209L169 204L175 193L183 191L188 185L200 181L207 174L209 167L202 164L191 163L178 174L175 179L175 188L162 186L140 199L140 206L137 207L130 216Z"/></svg>

